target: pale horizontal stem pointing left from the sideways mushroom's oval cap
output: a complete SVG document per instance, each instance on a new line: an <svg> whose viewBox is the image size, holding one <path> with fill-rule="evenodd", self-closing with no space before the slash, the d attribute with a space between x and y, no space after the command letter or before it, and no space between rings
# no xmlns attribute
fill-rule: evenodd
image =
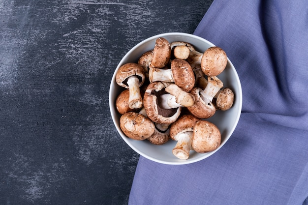
<svg viewBox="0 0 308 205"><path fill-rule="evenodd" d="M161 69L150 67L149 69L150 82L162 81L162 82L174 82L171 69Z"/></svg>

